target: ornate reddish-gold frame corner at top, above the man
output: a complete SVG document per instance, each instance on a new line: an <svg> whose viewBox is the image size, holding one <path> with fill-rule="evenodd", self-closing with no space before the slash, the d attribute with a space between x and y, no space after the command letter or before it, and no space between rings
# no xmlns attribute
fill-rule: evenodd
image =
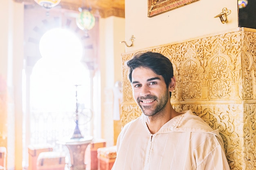
<svg viewBox="0 0 256 170"><path fill-rule="evenodd" d="M148 17L171 11L198 0L148 0Z"/></svg>

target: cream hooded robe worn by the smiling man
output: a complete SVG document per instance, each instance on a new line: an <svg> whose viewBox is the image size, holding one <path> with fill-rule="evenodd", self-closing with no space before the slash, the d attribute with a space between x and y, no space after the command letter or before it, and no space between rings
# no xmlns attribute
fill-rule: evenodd
<svg viewBox="0 0 256 170"><path fill-rule="evenodd" d="M223 141L191 110L151 134L146 116L129 122L117 139L112 170L230 170Z"/></svg>

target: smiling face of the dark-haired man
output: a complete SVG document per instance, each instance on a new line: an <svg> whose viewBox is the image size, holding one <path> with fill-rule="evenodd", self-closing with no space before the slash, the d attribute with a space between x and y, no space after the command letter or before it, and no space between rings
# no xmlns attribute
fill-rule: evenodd
<svg viewBox="0 0 256 170"><path fill-rule="evenodd" d="M132 71L133 97L142 112L152 116L162 111L170 102L169 91L162 75L149 68L139 67Z"/></svg>

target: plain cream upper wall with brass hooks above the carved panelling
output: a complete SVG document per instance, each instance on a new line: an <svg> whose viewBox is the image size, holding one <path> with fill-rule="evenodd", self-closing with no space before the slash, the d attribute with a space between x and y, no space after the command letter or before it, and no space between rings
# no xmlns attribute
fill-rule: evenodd
<svg viewBox="0 0 256 170"><path fill-rule="evenodd" d="M231 10L228 23L214 18L226 7ZM237 0L199 0L166 13L148 18L146 0L126 0L126 41L131 35L136 40L126 52L181 42L201 35L238 27Z"/></svg>

